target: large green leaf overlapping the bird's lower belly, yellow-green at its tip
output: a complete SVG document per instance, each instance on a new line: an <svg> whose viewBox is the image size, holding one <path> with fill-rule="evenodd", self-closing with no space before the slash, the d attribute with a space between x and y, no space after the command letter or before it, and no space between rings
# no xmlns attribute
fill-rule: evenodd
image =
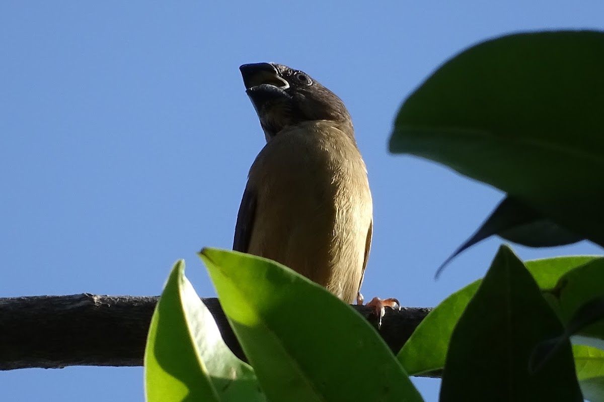
<svg viewBox="0 0 604 402"><path fill-rule="evenodd" d="M272 401L422 401L377 331L271 260L206 248L220 304Z"/></svg>

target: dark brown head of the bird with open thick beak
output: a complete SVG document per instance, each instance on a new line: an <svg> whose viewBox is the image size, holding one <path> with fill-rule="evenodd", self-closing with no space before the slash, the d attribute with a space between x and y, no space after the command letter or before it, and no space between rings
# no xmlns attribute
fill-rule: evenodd
<svg viewBox="0 0 604 402"><path fill-rule="evenodd" d="M239 69L267 141L306 121L332 121L352 133L342 100L306 73L276 63L243 64Z"/></svg>

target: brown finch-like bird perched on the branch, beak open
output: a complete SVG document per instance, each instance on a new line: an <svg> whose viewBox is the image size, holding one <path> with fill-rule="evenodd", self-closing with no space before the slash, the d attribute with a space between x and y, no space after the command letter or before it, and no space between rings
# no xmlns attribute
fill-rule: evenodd
<svg viewBox="0 0 604 402"><path fill-rule="evenodd" d="M266 144L249 169L233 250L286 265L345 303L362 304L373 201L349 111L303 71L277 63L239 69Z"/></svg>

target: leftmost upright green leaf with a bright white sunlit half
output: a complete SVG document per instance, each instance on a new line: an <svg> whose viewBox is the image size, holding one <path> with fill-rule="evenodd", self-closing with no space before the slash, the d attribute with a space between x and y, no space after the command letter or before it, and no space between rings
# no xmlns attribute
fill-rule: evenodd
<svg viewBox="0 0 604 402"><path fill-rule="evenodd" d="M252 369L222 341L182 260L172 268L153 313L144 366L149 402L265 401Z"/></svg>

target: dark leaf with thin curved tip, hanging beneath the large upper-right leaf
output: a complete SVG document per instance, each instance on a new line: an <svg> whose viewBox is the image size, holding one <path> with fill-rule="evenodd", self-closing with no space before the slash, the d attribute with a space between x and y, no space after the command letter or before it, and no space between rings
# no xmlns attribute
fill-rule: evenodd
<svg viewBox="0 0 604 402"><path fill-rule="evenodd" d="M506 196L480 228L439 266L435 277L439 277L452 259L493 234L528 247L554 247L582 240L522 201Z"/></svg>

